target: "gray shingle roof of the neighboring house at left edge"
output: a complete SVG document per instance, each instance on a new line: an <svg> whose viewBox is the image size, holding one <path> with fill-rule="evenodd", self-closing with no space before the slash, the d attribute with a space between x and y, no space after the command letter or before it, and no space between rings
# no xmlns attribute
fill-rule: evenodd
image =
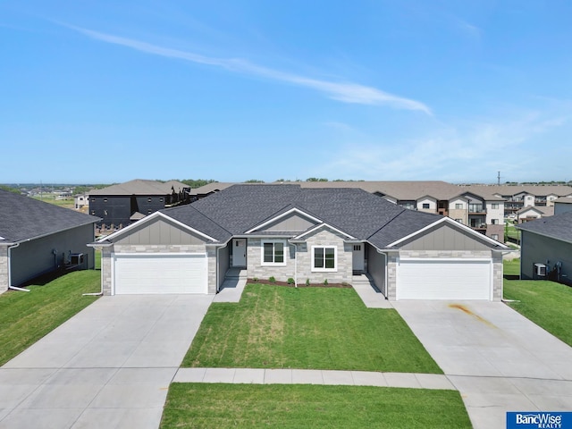
<svg viewBox="0 0 572 429"><path fill-rule="evenodd" d="M0 189L0 237L4 239L0 244L34 239L98 220L90 214Z"/></svg>

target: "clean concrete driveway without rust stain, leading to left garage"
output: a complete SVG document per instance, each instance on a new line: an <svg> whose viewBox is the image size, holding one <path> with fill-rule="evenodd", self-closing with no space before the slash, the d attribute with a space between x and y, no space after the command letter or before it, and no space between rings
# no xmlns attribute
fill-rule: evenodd
<svg viewBox="0 0 572 429"><path fill-rule="evenodd" d="M98 299L0 368L0 428L156 429L213 299Z"/></svg>

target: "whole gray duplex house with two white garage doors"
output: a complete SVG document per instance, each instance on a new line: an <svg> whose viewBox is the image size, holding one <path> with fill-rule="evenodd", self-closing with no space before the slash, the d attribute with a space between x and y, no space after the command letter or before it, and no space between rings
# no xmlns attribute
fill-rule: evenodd
<svg viewBox="0 0 572 429"><path fill-rule="evenodd" d="M351 283L366 273L392 300L500 300L509 249L363 189L291 184L234 185L93 246L102 249L106 295L215 293L229 269L241 269L261 282L298 285Z"/></svg>

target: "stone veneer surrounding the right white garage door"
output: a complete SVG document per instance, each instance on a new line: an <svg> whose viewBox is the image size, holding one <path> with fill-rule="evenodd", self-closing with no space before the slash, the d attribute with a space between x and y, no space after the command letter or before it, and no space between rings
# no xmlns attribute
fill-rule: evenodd
<svg viewBox="0 0 572 429"><path fill-rule="evenodd" d="M426 257L435 258L448 257L455 258L489 258L490 250L401 250L400 257ZM390 253L387 266L387 298L395 300L397 298L397 253ZM502 255L500 252L493 252L492 255L492 299L500 301L502 299Z"/></svg>

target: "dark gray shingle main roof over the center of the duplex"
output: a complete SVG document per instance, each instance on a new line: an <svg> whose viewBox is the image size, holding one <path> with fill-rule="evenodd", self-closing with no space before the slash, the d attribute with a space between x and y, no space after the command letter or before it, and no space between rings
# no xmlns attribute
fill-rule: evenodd
<svg viewBox="0 0 572 429"><path fill-rule="evenodd" d="M164 214L226 241L298 208L358 240L383 248L442 218L391 204L363 189L302 188L298 184L234 185Z"/></svg>

